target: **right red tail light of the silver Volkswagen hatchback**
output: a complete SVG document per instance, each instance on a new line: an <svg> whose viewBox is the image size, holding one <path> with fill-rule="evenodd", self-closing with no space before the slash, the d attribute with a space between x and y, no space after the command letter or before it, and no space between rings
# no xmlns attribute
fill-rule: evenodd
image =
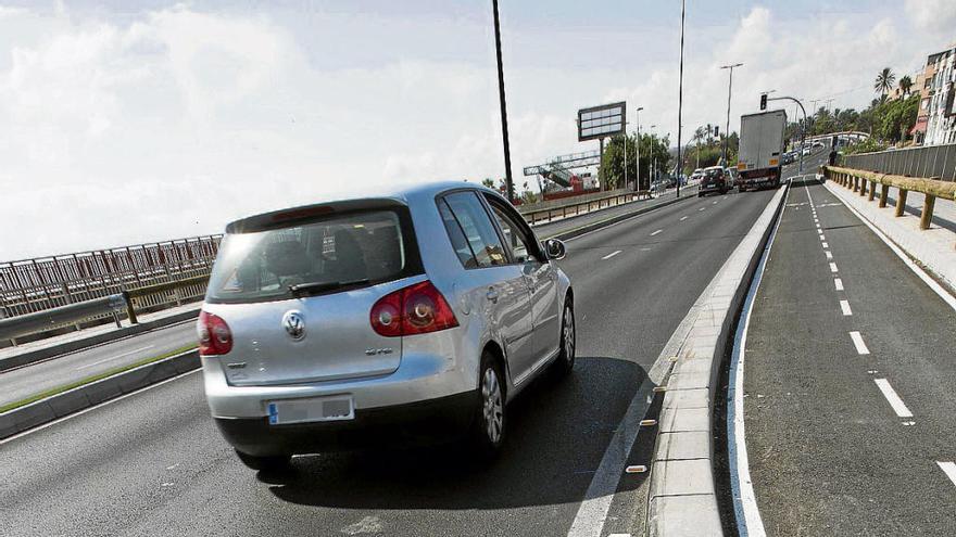
<svg viewBox="0 0 956 537"><path fill-rule="evenodd" d="M458 320L444 296L426 280L389 293L372 307L372 328L395 337L455 328Z"/></svg>

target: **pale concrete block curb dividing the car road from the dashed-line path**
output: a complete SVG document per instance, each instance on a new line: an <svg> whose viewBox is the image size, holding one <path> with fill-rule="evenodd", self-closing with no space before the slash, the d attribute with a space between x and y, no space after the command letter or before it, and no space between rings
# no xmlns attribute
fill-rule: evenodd
<svg viewBox="0 0 956 537"><path fill-rule="evenodd" d="M651 463L651 537L724 535L714 475L714 401L725 350L790 182L783 186L694 305L697 317L667 378Z"/></svg>

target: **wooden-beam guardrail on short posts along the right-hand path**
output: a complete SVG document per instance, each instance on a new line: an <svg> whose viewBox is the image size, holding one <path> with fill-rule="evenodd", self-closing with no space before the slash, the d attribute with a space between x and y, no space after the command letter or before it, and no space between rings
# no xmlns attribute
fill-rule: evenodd
<svg viewBox="0 0 956 537"><path fill-rule="evenodd" d="M890 188L900 190L896 196L896 205L894 215L903 216L906 207L906 195L908 192L920 192L926 195L922 204L922 212L919 217L919 228L929 229L933 220L933 207L936 197L944 200L956 200L956 182L942 181L939 179L926 179L921 177L906 177L894 174L881 174L864 169L846 168L841 166L823 166L823 175L836 182L859 192L859 195L868 195L869 201L873 201L876 196L880 199L880 207L886 206L886 199L890 196ZM881 186L880 193L877 194L877 183Z"/></svg>

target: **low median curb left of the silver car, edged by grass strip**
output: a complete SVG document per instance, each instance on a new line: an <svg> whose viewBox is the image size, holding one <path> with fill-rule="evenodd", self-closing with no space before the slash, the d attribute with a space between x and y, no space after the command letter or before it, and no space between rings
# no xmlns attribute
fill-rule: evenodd
<svg viewBox="0 0 956 537"><path fill-rule="evenodd" d="M0 440L200 367L199 351L171 356L0 413Z"/></svg>

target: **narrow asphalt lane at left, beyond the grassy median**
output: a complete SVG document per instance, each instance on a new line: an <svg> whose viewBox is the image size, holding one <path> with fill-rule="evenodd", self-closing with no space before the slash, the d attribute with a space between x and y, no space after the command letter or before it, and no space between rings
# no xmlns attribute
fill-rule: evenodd
<svg viewBox="0 0 956 537"><path fill-rule="evenodd" d="M0 372L0 405L196 344L196 320Z"/></svg>

